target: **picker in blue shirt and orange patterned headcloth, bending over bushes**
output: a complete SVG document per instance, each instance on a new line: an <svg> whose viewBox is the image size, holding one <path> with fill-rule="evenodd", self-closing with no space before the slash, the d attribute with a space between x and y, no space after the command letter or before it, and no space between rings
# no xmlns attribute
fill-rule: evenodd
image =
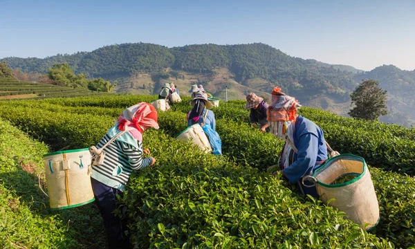
<svg viewBox="0 0 415 249"><path fill-rule="evenodd" d="M315 186L304 186L302 178L313 174L327 160L326 142L317 124L298 115L299 107L301 105L295 98L275 87L267 109L267 120L270 131L286 141L279 159L282 174L291 184L297 185L303 196L310 194L318 198Z"/></svg>

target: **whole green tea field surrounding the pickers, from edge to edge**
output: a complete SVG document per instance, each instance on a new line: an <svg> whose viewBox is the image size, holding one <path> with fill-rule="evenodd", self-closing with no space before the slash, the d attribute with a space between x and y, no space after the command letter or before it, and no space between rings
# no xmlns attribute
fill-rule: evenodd
<svg viewBox="0 0 415 249"><path fill-rule="evenodd" d="M0 102L0 212L5 217L0 221L0 244L104 248L95 204L48 209L48 199L37 186L42 154L95 145L124 108L155 98L106 95ZM333 148L367 160L380 205L380 222L367 232L344 213L304 199L280 175L266 172L277 163L283 141L252 128L244 102L221 102L213 109L223 156L204 154L176 140L187 126L188 100L159 113L160 130L145 132L143 142L156 165L133 174L120 199L117 212L127 217L135 248L415 245L413 129L302 108L302 115L322 127Z"/></svg>

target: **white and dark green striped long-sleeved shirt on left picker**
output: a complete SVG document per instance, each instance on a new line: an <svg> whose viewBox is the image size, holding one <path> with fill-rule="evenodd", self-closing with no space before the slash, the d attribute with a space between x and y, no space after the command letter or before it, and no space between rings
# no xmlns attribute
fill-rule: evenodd
<svg viewBox="0 0 415 249"><path fill-rule="evenodd" d="M110 139L106 134L96 147L103 147ZM109 187L125 190L131 173L151 164L151 157L142 158L142 142L137 142L138 148L118 139L107 145L103 150L104 162L102 165L92 166L91 178Z"/></svg>

